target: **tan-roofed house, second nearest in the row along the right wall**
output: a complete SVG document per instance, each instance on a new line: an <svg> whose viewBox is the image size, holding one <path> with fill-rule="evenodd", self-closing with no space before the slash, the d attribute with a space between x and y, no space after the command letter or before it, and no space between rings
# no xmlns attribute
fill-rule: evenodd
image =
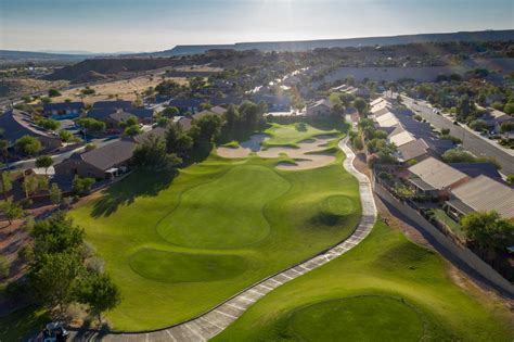
<svg viewBox="0 0 514 342"><path fill-rule="evenodd" d="M470 179L466 174L432 156L409 167L408 170L407 180L416 192L433 198L448 198L450 190Z"/></svg>

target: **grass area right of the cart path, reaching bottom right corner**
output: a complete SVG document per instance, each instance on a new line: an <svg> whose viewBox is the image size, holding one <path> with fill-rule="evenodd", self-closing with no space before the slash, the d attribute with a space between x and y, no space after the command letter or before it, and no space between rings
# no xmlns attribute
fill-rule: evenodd
<svg viewBox="0 0 514 342"><path fill-rule="evenodd" d="M468 291L438 254L378 221L355 249L270 292L214 341L512 341L512 314Z"/></svg>

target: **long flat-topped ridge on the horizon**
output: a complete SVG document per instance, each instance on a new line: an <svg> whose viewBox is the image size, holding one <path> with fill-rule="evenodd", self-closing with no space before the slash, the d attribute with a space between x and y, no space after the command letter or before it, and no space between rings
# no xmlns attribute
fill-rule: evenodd
<svg viewBox="0 0 514 342"><path fill-rule="evenodd" d="M347 39L320 39L301 41L261 41L237 42L233 45L205 45L205 46L177 46L171 50L152 52L146 55L167 56L205 53L214 49L261 50L261 51L308 51L322 48L350 48L370 46L394 46L422 42L450 42L450 41L493 41L514 40L514 29L459 31L448 34L420 34L387 37L365 37Z"/></svg>

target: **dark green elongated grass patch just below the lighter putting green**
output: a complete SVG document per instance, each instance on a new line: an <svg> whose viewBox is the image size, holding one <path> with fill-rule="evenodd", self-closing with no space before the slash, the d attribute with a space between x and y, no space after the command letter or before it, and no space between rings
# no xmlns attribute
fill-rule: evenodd
<svg viewBox="0 0 514 342"><path fill-rule="evenodd" d="M130 257L130 267L141 277L162 282L216 281L246 270L237 255L172 253L142 250Z"/></svg>

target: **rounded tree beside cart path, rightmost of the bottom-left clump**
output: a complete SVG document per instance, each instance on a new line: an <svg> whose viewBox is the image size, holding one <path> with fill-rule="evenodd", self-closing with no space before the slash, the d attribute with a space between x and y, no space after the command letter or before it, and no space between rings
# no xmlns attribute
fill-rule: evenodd
<svg viewBox="0 0 514 342"><path fill-rule="evenodd" d="M121 294L111 277L92 274L80 284L78 300L89 306L101 324L102 313L115 308L121 302Z"/></svg>

